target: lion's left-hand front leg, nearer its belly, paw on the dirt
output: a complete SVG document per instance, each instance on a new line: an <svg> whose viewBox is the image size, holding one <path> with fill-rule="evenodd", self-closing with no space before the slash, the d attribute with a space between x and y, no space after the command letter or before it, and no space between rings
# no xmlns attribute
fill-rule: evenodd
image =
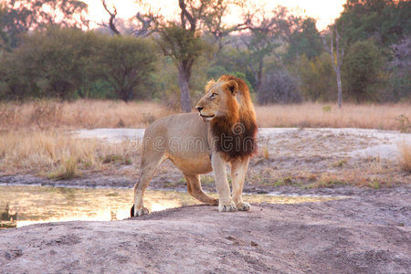
<svg viewBox="0 0 411 274"><path fill-rule="evenodd" d="M220 153L213 153L211 157L214 177L216 179L216 191L218 193L218 211L237 211L237 206L233 202L230 194L230 186L227 180L226 161Z"/></svg>

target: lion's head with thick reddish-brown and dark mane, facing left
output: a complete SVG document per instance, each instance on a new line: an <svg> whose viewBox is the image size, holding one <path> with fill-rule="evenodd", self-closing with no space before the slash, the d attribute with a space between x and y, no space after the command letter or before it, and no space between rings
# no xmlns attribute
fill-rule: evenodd
<svg viewBox="0 0 411 274"><path fill-rule="evenodd" d="M256 114L247 84L232 75L223 75L205 86L205 96L195 109L210 121L216 150L227 160L244 158L257 149Z"/></svg>

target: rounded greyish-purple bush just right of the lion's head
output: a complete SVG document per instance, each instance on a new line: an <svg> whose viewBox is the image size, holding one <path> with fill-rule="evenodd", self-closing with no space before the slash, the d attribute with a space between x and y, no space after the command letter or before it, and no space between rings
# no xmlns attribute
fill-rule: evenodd
<svg viewBox="0 0 411 274"><path fill-rule="evenodd" d="M286 71L267 73L257 94L258 103L300 103L302 100L298 79Z"/></svg>

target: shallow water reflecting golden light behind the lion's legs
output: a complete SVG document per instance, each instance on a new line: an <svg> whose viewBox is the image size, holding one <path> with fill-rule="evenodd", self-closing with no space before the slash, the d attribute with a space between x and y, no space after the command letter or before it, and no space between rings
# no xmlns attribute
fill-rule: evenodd
<svg viewBox="0 0 411 274"><path fill-rule="evenodd" d="M73 220L110 221L130 216L132 189L0 186L0 229ZM249 203L294 204L336 199L321 196L243 195ZM184 192L147 190L144 205L159 211L200 204Z"/></svg>

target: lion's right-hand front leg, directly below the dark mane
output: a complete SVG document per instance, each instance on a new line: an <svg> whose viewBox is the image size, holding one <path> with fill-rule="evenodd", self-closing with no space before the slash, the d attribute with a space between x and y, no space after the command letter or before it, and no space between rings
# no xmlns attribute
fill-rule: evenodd
<svg viewBox="0 0 411 274"><path fill-rule="evenodd" d="M233 200L238 210L248 211L250 205L243 202L243 186L246 180L249 158L235 160L231 163L231 180L233 182Z"/></svg>

